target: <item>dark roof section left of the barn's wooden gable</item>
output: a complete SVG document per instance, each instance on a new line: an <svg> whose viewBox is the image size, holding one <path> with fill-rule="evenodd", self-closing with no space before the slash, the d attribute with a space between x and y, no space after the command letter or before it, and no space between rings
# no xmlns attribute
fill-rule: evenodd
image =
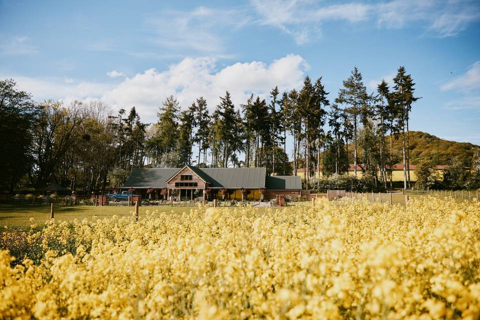
<svg viewBox="0 0 480 320"><path fill-rule="evenodd" d="M136 168L123 184L124 188L166 188L166 180L179 168Z"/></svg>

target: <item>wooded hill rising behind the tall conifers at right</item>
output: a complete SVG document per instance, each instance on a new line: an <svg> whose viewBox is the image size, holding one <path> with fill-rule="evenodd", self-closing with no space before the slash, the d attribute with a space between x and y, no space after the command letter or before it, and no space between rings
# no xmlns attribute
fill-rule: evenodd
<svg viewBox="0 0 480 320"><path fill-rule="evenodd" d="M387 137L387 143L390 138ZM389 146L387 146L389 147ZM469 142L456 142L441 139L421 131L410 131L410 163L417 164L421 158L433 161L434 165L449 164L451 158L460 158L464 165L471 164L473 149L480 147ZM393 152L401 162L401 135L393 138Z"/></svg>

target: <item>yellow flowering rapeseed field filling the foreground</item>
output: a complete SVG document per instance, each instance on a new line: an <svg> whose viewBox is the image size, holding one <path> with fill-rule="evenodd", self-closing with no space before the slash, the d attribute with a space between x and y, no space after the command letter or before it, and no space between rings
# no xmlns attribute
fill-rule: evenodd
<svg viewBox="0 0 480 320"><path fill-rule="evenodd" d="M0 318L477 319L480 203L408 204L199 207L6 230Z"/></svg>

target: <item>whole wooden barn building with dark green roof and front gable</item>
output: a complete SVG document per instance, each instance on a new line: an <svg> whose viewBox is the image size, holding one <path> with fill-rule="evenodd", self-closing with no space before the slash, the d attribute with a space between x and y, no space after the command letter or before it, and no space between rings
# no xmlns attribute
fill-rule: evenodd
<svg viewBox="0 0 480 320"><path fill-rule="evenodd" d="M301 180L293 175L266 175L265 168L182 168L133 169L123 185L135 193L147 189L155 197L188 200L206 195L207 199L271 199L276 195L300 195Z"/></svg>

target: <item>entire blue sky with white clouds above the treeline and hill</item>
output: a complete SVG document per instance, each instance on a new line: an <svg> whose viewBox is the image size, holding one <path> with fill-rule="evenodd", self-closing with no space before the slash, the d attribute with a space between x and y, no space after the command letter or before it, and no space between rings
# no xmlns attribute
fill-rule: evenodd
<svg viewBox="0 0 480 320"><path fill-rule="evenodd" d="M35 99L101 98L153 122L170 94L213 108L357 66L370 91L404 65L412 130L480 144L478 1L0 1L0 77Z"/></svg>

